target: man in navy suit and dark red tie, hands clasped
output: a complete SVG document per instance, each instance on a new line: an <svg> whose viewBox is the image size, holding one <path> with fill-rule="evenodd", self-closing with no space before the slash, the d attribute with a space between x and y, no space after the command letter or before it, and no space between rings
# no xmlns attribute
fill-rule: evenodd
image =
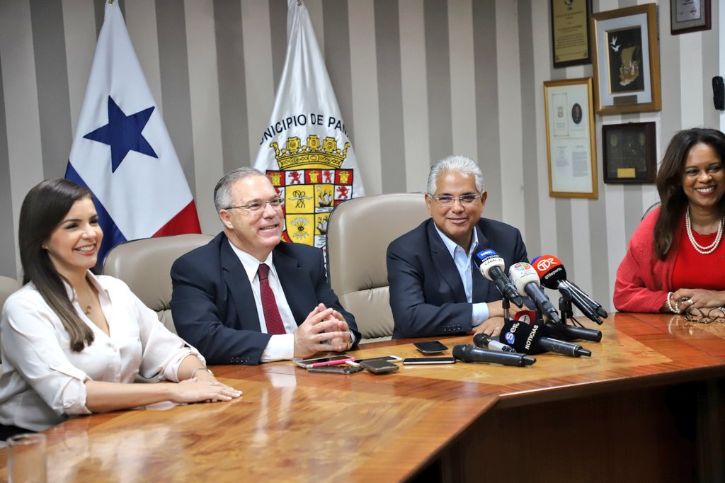
<svg viewBox="0 0 725 483"><path fill-rule="evenodd" d="M281 199L264 173L226 174L214 203L223 232L171 267L176 331L207 363L305 358L360 341L328 284L322 250L280 243Z"/></svg>

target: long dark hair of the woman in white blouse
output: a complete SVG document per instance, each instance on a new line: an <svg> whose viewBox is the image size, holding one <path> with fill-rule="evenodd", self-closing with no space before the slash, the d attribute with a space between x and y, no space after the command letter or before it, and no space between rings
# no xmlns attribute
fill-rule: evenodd
<svg viewBox="0 0 725 483"><path fill-rule="evenodd" d="M67 179L49 179L28 191L20 207L20 262L22 282L32 281L53 309L70 334L70 348L80 352L94 341L90 327L82 320L68 299L64 281L55 269L43 244L62 222L70 208L79 199L93 199L93 194L83 186Z"/></svg>

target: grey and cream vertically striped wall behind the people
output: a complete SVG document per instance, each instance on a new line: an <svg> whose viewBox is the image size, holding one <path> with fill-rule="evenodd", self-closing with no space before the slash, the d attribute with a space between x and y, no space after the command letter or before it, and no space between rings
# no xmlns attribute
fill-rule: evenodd
<svg viewBox="0 0 725 483"><path fill-rule="evenodd" d="M254 159L286 46L286 0L120 0L128 30L196 198L219 229L211 191ZM305 0L369 194L420 191L428 166L467 154L486 176L485 214L521 228L532 257L558 255L570 278L611 305L616 267L653 186L605 185L597 200L548 194L544 80L552 68L547 0ZM594 12L634 0L592 0ZM653 120L672 133L719 125L713 29L671 36L659 2L663 109L597 116ZM17 218L31 186L62 176L86 88L102 0L0 1L0 274L19 276ZM601 167L601 152L597 152ZM385 213L381 213L385 216Z"/></svg>

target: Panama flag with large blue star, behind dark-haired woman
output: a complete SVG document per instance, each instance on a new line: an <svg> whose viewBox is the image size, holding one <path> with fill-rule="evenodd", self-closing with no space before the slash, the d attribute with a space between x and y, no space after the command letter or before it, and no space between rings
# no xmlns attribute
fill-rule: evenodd
<svg viewBox="0 0 725 483"><path fill-rule="evenodd" d="M65 177L93 192L104 238L201 233L196 205L133 51L117 1L106 3Z"/></svg>

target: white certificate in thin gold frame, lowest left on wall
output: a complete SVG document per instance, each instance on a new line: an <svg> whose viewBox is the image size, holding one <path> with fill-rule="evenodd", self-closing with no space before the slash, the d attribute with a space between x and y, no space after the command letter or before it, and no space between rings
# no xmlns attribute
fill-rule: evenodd
<svg viewBox="0 0 725 483"><path fill-rule="evenodd" d="M549 196L598 197L592 78L544 82Z"/></svg>

